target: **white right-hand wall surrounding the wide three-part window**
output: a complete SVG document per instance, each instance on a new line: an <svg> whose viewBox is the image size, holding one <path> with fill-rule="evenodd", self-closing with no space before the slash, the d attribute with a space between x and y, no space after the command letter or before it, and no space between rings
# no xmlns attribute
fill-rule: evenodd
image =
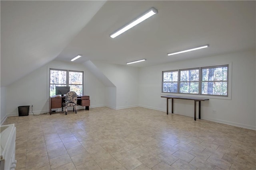
<svg viewBox="0 0 256 170"><path fill-rule="evenodd" d="M161 98L169 94L162 93L164 70L226 63L232 63L232 97L226 100L197 95L210 98L201 102L201 119L256 129L255 50L140 68L139 105L166 111L166 98ZM213 109L216 114L212 113ZM174 113L194 117L194 101L174 100Z"/></svg>

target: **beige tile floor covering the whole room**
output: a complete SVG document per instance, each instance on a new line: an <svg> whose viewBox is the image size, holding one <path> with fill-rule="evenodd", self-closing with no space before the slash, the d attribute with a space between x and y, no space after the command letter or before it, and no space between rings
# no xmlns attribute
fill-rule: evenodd
<svg viewBox="0 0 256 170"><path fill-rule="evenodd" d="M16 170L256 169L256 131L143 107L4 122L11 123Z"/></svg>

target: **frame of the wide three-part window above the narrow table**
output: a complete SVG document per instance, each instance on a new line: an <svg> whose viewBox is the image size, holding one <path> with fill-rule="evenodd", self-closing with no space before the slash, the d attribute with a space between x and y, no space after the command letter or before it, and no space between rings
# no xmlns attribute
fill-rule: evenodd
<svg viewBox="0 0 256 170"><path fill-rule="evenodd" d="M203 82L207 82L207 81L202 81L202 70L205 68L219 68L219 67L227 67L227 80L222 80L222 81L213 81L213 82L227 82L227 95L214 95L214 94L202 94L202 83ZM182 94L188 94L188 95L203 95L203 96L212 96L214 97L224 97L224 98L228 98L231 99L231 92L229 90L231 90L231 85L230 85L230 79L231 79L231 68L232 68L232 64L231 63L225 63L225 64L216 64L214 66L201 66L201 67L194 67L194 68L182 68L182 69L174 69L174 70L166 70L166 71L162 71L162 93L172 93L172 94L178 94L178 95L182 95ZM180 92L180 83L184 82L184 81L180 81L181 77L180 77L180 72L183 70L198 70L198 81L190 81L190 82L198 82L198 94L194 94L194 93L182 93ZM177 92L164 92L164 72L174 72L178 70L178 84L177 84ZM185 81L187 82L187 81Z"/></svg>

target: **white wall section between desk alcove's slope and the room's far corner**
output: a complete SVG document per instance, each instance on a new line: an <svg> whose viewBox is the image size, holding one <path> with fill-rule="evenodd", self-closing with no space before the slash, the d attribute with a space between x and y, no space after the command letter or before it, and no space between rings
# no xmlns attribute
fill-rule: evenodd
<svg viewBox="0 0 256 170"><path fill-rule="evenodd" d="M92 62L116 86L115 109L138 106L138 68L98 61Z"/></svg>

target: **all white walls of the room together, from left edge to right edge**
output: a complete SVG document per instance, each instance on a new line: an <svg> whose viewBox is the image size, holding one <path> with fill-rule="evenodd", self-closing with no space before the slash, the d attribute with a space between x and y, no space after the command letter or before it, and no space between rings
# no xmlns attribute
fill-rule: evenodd
<svg viewBox="0 0 256 170"><path fill-rule="evenodd" d="M31 74L22 77L10 86L1 87L1 123L6 115L18 115L18 106L33 104L34 113L48 112L49 68L84 71L84 94L90 95L91 107L108 106L114 109L121 109L142 106L166 111L166 99L160 97L168 95L168 93L161 92L162 71L232 63L232 98L214 99L211 96L207 96L210 100L202 102L201 118L256 129L255 51L231 53L144 68L98 61L93 61L93 63L116 88L104 86L82 64L52 61ZM212 113L213 109L216 110L216 114ZM174 100L174 113L193 117L194 102L190 100ZM166 113L163 112L163 114Z"/></svg>

